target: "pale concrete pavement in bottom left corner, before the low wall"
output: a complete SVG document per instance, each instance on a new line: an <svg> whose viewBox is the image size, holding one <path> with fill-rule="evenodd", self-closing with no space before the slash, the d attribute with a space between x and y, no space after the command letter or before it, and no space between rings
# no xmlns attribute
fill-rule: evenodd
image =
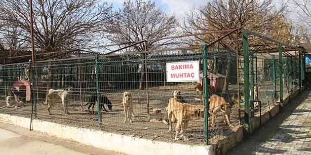
<svg viewBox="0 0 311 155"><path fill-rule="evenodd" d="M0 122L0 155L122 155Z"/></svg>

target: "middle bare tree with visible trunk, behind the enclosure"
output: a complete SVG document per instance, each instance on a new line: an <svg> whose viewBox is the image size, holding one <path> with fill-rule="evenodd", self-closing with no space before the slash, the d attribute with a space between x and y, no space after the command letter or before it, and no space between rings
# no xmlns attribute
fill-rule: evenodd
<svg viewBox="0 0 311 155"><path fill-rule="evenodd" d="M155 2L142 0L127 0L109 28L107 39L114 43L147 41L146 44L134 46L135 51L159 48L166 43L157 44L157 38L172 35L176 32L177 20L174 16L166 15ZM146 55L142 55L144 58ZM141 63L140 89L143 89L145 63Z"/></svg>

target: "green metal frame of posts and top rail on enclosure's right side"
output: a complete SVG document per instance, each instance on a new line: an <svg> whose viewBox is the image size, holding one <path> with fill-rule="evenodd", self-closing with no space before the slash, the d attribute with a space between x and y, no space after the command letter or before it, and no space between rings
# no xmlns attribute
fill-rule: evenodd
<svg viewBox="0 0 311 155"><path fill-rule="evenodd" d="M250 121L250 117L253 117L253 106L254 106L254 69L253 69L253 53L249 53L249 49L248 49L248 44L249 44L249 40L248 40L248 36L252 35L258 38L261 38L263 40L268 40L271 41L273 43L276 43L278 45L277 48L277 52L278 52L278 74L279 74L279 87L280 87L280 107L283 106L283 100L284 100L284 94L283 94L283 49L282 47L291 47L291 48L295 48L297 49L297 51L299 51L299 63L300 63L300 83L301 81L304 79L304 73L303 73L303 59L301 58L301 52L302 49L301 48L296 48L296 47L292 47L289 45L286 45L282 42L273 40L271 38L262 36L260 34L257 34L255 32L252 31L243 31L243 54L244 54L244 100L245 100L245 104L244 104L244 121L245 121L245 131L246 133L248 133L250 131L250 125L249 125L249 121ZM276 64L275 64L275 58L274 55L272 56L272 82L273 82L273 94L274 94L274 98L276 97ZM292 70L292 62L291 62L291 70ZM293 75L291 75L293 76ZM293 77L292 77L292 83L293 83ZM301 85L301 84L300 84ZM291 90L293 91L293 89L291 88ZM300 87L300 91L301 91L301 87ZM292 92L293 93L293 92ZM290 96L291 97L291 96ZM250 111L251 110L251 111Z"/></svg>

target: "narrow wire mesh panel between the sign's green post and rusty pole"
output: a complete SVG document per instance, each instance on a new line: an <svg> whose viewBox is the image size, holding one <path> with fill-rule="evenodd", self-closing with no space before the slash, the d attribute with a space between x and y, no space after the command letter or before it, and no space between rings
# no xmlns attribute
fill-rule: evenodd
<svg viewBox="0 0 311 155"><path fill-rule="evenodd" d="M236 54L230 49L209 47L208 51L208 93L210 123L209 135L216 139L226 136L231 126L239 124L240 105L237 89ZM219 105L218 105L219 104ZM228 104L228 107L227 107ZM217 109L218 106L224 107Z"/></svg>

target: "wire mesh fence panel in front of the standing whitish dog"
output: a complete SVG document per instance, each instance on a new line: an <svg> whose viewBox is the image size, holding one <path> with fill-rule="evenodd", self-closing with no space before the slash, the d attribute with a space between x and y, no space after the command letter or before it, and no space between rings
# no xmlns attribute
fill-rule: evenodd
<svg viewBox="0 0 311 155"><path fill-rule="evenodd" d="M93 111L81 111L96 100L96 73L91 59L58 60L32 64L32 93L39 119L83 127L98 127ZM96 110L96 107L95 107Z"/></svg>

